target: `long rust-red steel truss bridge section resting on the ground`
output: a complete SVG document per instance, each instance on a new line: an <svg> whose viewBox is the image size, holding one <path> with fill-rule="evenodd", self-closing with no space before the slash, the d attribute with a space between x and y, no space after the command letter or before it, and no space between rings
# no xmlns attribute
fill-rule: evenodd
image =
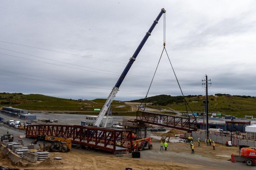
<svg viewBox="0 0 256 170"><path fill-rule="evenodd" d="M127 136L128 146L131 149L132 132L119 129L98 128L94 126L79 125L28 125L26 137L58 136L71 138L72 143L87 147L98 148L104 151L126 151L124 135ZM117 142L118 141L118 142ZM120 145L118 145L120 141Z"/></svg>

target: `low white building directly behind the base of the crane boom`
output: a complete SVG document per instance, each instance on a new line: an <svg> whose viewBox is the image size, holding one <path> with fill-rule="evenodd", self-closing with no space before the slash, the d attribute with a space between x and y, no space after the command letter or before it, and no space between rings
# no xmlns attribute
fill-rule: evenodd
<svg viewBox="0 0 256 170"><path fill-rule="evenodd" d="M85 121L81 121L81 125L82 126L91 126L95 122L96 118L97 118L97 116L86 116ZM100 127L104 127L105 122L106 122L106 116L103 117L103 119L100 123ZM113 128L113 125L114 125L113 117L108 117L108 122L106 124L106 128Z"/></svg>

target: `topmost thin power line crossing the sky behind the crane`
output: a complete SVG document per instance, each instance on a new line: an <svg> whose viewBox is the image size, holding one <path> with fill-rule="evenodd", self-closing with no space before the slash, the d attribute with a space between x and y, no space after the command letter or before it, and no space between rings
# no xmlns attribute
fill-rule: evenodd
<svg viewBox="0 0 256 170"><path fill-rule="evenodd" d="M40 48L40 47L33 47L33 46L27 46L27 45L22 45L22 44L10 43L10 42L7 42L7 41L0 41L0 42L2 42L2 43L8 43L8 44L14 44L14 45L18 45L18 46L36 48L36 49L40 49L40 50L53 51L53 52L58 52L58 53L63 53L63 54L75 55L75 56L80 56L80 57L87 57L87 58L91 58L91 59L95 59L95 60L102 60L102 61L107 61L107 62L114 62L114 63L125 64L125 65L127 64L127 63L117 62L117 61L113 61L113 60L105 60L105 59L102 59L102 58L95 58L95 57L89 57L89 56L85 56L85 55L72 54L72 53L68 53L68 52L62 52L62 51L56 51L56 50L49 50L49 49ZM155 69L155 68L152 68L152 67L139 66L139 65L133 65L133 66ZM164 70L164 69L159 69L159 70L172 72L172 71L170 71L170 70ZM198 75L198 74L190 74L190 73L183 73L183 72L179 72L179 73L200 76L200 75ZM151 79L150 79L150 80L151 80Z"/></svg>

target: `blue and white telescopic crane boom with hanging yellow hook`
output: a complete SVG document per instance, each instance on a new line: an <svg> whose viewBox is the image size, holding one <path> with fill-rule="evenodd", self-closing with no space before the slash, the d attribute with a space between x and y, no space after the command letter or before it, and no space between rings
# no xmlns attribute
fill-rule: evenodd
<svg viewBox="0 0 256 170"><path fill-rule="evenodd" d="M130 61L128 62L128 64L126 65L123 73L120 75L118 81L116 82L116 85L113 87L112 91L110 92L109 97L107 98L106 102L104 103L103 107L100 110L99 115L97 116L97 118L95 119L94 125L95 126L99 126L103 117L105 116L106 112L110 109L111 103L114 100L115 95L118 92L118 89L120 87L120 85L122 84L126 74L128 73L129 69L131 68L133 62L136 60L136 57L138 56L138 54L140 53L140 50L142 49L142 47L144 46L144 44L146 43L147 38L151 35L151 32L153 31L153 29L155 28L156 24L158 23L159 19L161 18L162 14L165 15L166 10L164 8L161 9L161 12L158 14L156 20L153 22L152 26L150 27L150 29L148 30L148 32L146 33L146 35L144 36L144 38L142 39L139 47L136 49L136 51L134 52L134 54L132 55L132 57L130 58ZM165 16L164 16L164 26L165 26ZM165 28L164 28L165 29ZM165 30L164 30L165 33ZM164 43L165 45L165 43ZM107 120L106 120L107 121ZM106 124L106 123L105 123Z"/></svg>

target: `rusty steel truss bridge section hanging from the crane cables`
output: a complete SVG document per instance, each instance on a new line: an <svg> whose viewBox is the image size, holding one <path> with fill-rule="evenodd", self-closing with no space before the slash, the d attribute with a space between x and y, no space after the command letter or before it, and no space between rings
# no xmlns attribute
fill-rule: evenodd
<svg viewBox="0 0 256 170"><path fill-rule="evenodd" d="M187 132L197 131L196 118L138 111L136 121L184 130Z"/></svg>

